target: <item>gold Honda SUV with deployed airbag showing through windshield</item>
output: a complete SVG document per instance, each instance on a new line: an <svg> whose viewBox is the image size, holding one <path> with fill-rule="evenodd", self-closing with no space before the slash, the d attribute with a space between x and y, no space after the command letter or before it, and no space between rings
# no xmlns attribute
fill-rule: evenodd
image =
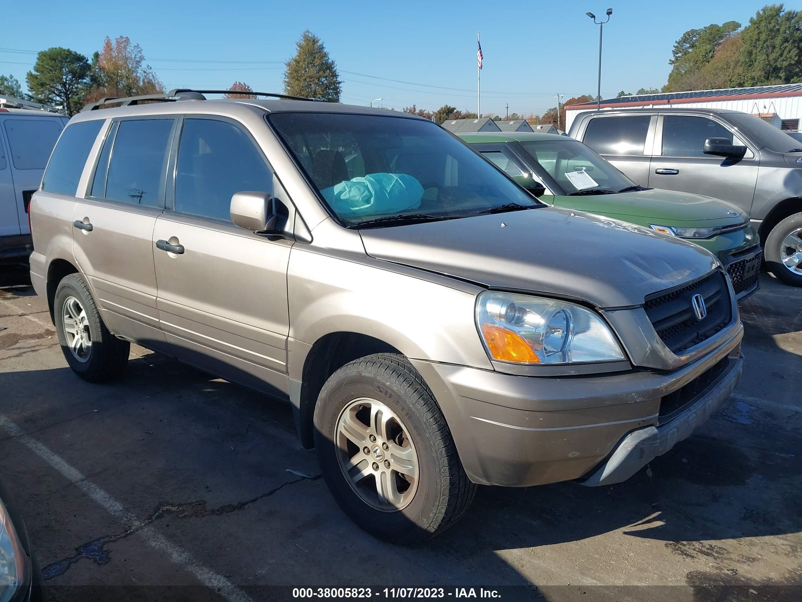
<svg viewBox="0 0 802 602"><path fill-rule="evenodd" d="M136 343L288 401L342 510L402 543L476 484L621 482L737 384L707 250L543 205L406 113L221 92L102 100L55 146L30 275L84 379Z"/></svg>

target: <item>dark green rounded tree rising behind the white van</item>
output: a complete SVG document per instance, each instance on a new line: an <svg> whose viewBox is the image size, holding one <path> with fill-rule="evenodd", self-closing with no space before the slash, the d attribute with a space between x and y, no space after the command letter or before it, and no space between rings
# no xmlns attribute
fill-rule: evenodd
<svg viewBox="0 0 802 602"><path fill-rule="evenodd" d="M26 80L38 103L59 105L67 116L78 112L89 83L89 61L68 48L48 48L36 56Z"/></svg>

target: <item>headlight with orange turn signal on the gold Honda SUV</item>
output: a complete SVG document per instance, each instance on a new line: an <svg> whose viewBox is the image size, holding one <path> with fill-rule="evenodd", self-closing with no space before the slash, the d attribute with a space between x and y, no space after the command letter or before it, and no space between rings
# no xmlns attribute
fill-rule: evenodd
<svg viewBox="0 0 802 602"><path fill-rule="evenodd" d="M493 360L516 364L574 364L624 360L602 319L567 301L484 291L476 324Z"/></svg>

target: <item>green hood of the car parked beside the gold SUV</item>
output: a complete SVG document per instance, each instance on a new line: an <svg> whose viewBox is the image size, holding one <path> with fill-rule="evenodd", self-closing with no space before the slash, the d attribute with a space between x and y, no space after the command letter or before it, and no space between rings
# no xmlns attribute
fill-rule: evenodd
<svg viewBox="0 0 802 602"><path fill-rule="evenodd" d="M621 216L619 219L624 220L627 216L644 218L660 226L694 226L699 222L704 222L704 226L732 226L748 219L747 214L730 203L675 190L554 197L553 202L558 207Z"/></svg>

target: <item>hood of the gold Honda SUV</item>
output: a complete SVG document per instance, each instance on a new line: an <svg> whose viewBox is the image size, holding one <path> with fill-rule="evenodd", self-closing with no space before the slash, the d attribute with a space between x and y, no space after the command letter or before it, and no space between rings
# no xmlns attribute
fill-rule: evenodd
<svg viewBox="0 0 802 602"><path fill-rule="evenodd" d="M359 234L371 257L597 307L640 305L646 295L718 265L707 250L681 239L554 207Z"/></svg>

